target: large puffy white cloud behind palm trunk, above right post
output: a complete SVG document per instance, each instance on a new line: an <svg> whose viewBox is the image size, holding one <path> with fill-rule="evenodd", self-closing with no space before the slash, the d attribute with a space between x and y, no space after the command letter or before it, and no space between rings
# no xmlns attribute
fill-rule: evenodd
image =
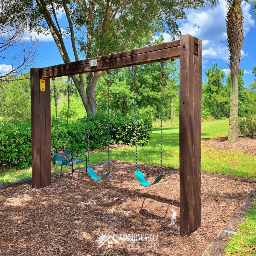
<svg viewBox="0 0 256 256"><path fill-rule="evenodd" d="M227 47L226 32L226 1L221 0L214 9L186 10L187 19L178 22L182 35L190 34L202 40L203 57L222 59L229 62L229 49ZM255 26L251 14L250 5L242 5L244 14L244 35L252 26ZM164 33L165 42L170 41L170 35ZM178 38L177 38L178 39ZM248 52L241 51L242 57L248 56Z"/></svg>

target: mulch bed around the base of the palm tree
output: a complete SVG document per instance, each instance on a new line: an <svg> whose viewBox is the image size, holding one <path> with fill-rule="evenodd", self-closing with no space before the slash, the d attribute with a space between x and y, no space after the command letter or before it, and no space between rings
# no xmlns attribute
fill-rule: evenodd
<svg viewBox="0 0 256 256"><path fill-rule="evenodd" d="M244 153L256 156L256 139L239 138L237 142L229 142L227 137L204 141L203 146L213 147L218 150L241 150Z"/></svg>

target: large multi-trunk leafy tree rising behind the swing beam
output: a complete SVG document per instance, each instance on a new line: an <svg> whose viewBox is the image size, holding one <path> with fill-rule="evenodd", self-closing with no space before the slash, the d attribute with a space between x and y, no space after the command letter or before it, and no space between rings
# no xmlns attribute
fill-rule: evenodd
<svg viewBox="0 0 256 256"><path fill-rule="evenodd" d="M30 31L51 34L65 63L143 47L157 32L172 37L180 31L189 0L10 0ZM62 11L63 16L57 11ZM65 17L65 21L63 20ZM67 27L63 28L66 23ZM68 52L72 45L72 53ZM86 111L96 113L95 88L101 72L72 76ZM86 89L86 90L85 90Z"/></svg>

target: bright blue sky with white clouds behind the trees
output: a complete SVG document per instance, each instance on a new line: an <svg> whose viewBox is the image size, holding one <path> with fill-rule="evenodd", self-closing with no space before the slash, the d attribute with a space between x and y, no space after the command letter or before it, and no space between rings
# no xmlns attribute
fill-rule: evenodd
<svg viewBox="0 0 256 256"><path fill-rule="evenodd" d="M179 20L178 25L183 35L191 34L203 41L203 70L202 80L206 80L205 71L211 68L213 63L220 66L225 71L226 75L229 72L229 51L227 48L226 35L226 12L227 6L225 2L220 2L220 5L215 9L200 9L200 10L186 10L186 20ZM251 20L250 5L243 6L244 14L244 43L242 48L242 62L240 69L243 69L245 74L245 86L254 81L254 74L251 70L256 65L256 26ZM59 12L59 17L62 13ZM64 18L64 17L63 17ZM29 34L25 31L25 37ZM33 36L34 37L34 36ZM165 41L171 41L168 34L164 34ZM66 39L68 40L68 39ZM51 66L63 63L57 46L55 45L50 35L39 35L39 49L38 49L38 65L40 67ZM71 55L70 55L71 56ZM71 59L74 61L74 59ZM13 63L15 66L16 63ZM11 68L11 62L7 60L0 60L0 73L5 73ZM226 81L226 78L225 78Z"/></svg>

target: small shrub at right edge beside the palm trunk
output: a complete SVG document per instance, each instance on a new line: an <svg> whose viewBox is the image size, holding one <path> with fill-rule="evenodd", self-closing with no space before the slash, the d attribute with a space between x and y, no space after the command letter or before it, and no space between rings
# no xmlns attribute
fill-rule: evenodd
<svg viewBox="0 0 256 256"><path fill-rule="evenodd" d="M249 115L247 118L240 118L238 120L238 132L242 137L256 137L256 118L255 116Z"/></svg>

